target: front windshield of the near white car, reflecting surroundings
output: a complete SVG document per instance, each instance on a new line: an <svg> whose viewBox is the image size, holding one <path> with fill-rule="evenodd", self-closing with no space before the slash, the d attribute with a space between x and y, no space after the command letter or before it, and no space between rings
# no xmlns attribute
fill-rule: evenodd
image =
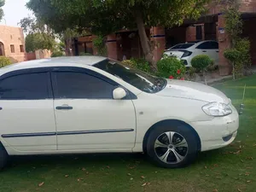
<svg viewBox="0 0 256 192"><path fill-rule="evenodd" d="M147 93L156 93L164 89L167 83L166 79L143 73L140 70L123 65L119 61L104 60L96 63L94 67L100 68Z"/></svg>

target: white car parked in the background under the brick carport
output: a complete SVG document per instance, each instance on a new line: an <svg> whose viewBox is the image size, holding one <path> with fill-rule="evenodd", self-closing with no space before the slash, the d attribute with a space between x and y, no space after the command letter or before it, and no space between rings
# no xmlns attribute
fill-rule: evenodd
<svg viewBox="0 0 256 192"><path fill-rule="evenodd" d="M176 56L184 62L186 67L191 67L191 60L196 55L208 55L215 65L218 65L218 42L201 41L198 43L177 44L164 52L168 56Z"/></svg>

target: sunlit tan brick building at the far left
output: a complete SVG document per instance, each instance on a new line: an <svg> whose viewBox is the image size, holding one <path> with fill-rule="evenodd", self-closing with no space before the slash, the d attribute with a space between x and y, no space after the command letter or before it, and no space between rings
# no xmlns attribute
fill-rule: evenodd
<svg viewBox="0 0 256 192"><path fill-rule="evenodd" d="M20 27L0 26L0 55L12 62L26 61L23 31Z"/></svg>

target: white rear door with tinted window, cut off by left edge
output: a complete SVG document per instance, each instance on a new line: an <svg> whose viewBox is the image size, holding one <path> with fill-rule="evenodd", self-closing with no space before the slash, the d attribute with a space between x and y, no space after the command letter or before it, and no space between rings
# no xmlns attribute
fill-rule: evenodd
<svg viewBox="0 0 256 192"><path fill-rule="evenodd" d="M1 140L18 151L56 150L55 114L48 68L0 77Z"/></svg>

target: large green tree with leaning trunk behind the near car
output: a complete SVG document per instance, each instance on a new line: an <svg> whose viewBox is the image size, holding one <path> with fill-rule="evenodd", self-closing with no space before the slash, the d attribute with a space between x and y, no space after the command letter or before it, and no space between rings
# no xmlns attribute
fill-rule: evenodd
<svg viewBox="0 0 256 192"><path fill-rule="evenodd" d="M197 18L207 0L30 0L27 7L55 31L79 27L96 35L137 27L145 58L156 68L146 34L150 26L180 25Z"/></svg>

